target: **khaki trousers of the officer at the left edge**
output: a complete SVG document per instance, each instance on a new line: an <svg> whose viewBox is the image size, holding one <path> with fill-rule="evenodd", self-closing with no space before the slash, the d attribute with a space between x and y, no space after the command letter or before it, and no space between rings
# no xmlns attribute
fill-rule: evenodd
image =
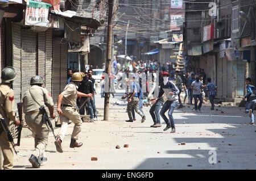
<svg viewBox="0 0 256 181"><path fill-rule="evenodd" d="M3 169L13 169L13 149L5 132L0 133L0 147L3 154Z"/></svg>

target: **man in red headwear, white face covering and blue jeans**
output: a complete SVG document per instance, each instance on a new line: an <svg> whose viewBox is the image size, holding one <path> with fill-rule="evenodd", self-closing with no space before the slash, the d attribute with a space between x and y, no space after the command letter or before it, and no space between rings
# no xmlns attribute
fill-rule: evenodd
<svg viewBox="0 0 256 181"><path fill-rule="evenodd" d="M152 103L160 100L163 94L165 93L167 96L167 101L163 104L162 110L160 111L160 115L162 116L163 120L166 122L166 128L163 131L167 131L168 129L172 128L171 133L175 133L175 124L174 124L174 117L172 113L174 109L179 106L179 89L175 86L174 83L168 81L168 72L163 73L163 82L160 85L160 91L158 98L152 99ZM164 115L166 111L168 111L169 119Z"/></svg>

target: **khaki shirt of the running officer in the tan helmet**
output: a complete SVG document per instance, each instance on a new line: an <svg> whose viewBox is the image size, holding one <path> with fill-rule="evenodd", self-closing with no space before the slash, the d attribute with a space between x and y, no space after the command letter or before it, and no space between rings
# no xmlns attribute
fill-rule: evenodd
<svg viewBox="0 0 256 181"><path fill-rule="evenodd" d="M61 94L63 95L63 104L67 104L73 107L76 107L76 98L77 98L77 89L78 86L71 82L69 83Z"/></svg>

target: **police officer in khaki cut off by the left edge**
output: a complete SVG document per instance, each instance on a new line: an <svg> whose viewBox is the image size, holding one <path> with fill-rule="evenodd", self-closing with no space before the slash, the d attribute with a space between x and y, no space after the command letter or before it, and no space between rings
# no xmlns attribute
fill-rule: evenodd
<svg viewBox="0 0 256 181"><path fill-rule="evenodd" d="M10 120L13 120L15 125L20 125L20 121L16 119L13 112L14 93L11 89L11 85L14 81L15 75L15 69L11 66L7 66L2 70L2 83L0 84L0 118L5 119L7 127L9 127ZM7 135L3 131L1 125L0 147L3 154L3 169L13 169L13 147L8 141Z"/></svg>

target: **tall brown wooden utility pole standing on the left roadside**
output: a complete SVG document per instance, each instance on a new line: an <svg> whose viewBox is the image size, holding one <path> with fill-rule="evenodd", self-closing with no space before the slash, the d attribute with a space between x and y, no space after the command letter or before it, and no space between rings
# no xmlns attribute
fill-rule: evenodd
<svg viewBox="0 0 256 181"><path fill-rule="evenodd" d="M106 74L109 78L105 78L105 86L108 84L108 92L105 92L104 100L104 120L109 120L109 98L110 98L110 73L112 66L112 34L113 34L113 0L108 0L109 12L108 12L108 32L107 32L107 46L106 46Z"/></svg>

